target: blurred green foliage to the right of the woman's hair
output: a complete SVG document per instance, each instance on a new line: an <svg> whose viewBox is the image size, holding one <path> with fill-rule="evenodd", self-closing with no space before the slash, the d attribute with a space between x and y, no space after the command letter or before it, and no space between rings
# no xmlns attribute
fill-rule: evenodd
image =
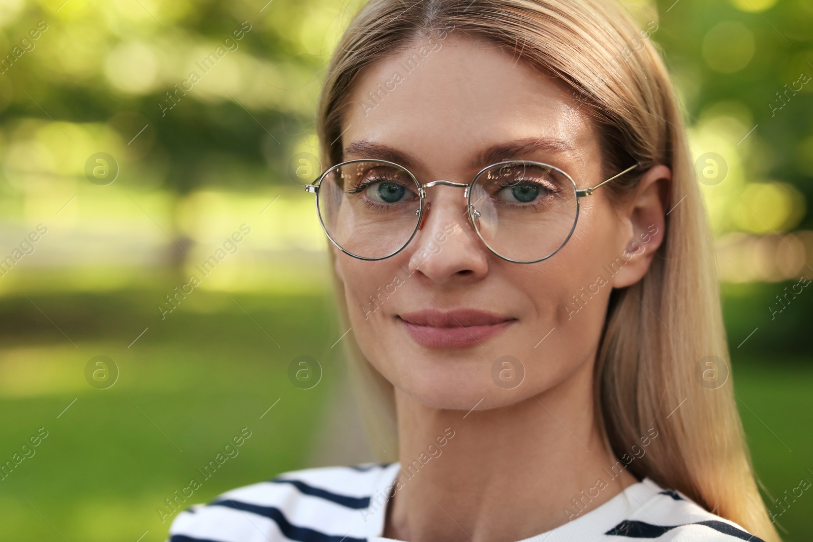
<svg viewBox="0 0 813 542"><path fill-rule="evenodd" d="M654 40L685 103L695 156L718 152L728 162L728 179L706 196L753 204L762 194L743 193L743 184L781 182L790 201L769 200L757 214L775 231L813 228L813 2L680 0L659 2L659 13ZM711 209L719 230L770 232L763 220L737 221L741 205L728 217L715 202ZM772 209L782 216L772 221Z"/></svg>

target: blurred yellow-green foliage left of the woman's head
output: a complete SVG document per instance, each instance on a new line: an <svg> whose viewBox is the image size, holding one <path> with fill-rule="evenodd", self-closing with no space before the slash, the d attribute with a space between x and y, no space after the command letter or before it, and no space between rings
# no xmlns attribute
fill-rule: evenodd
<svg viewBox="0 0 813 542"><path fill-rule="evenodd" d="M6 149L33 136L45 147L38 163L24 163L28 171L80 174L93 147L123 170L146 170L153 187L181 193L280 182L268 171L285 171L312 124L329 52L320 40L340 3L277 0L262 13L256 2L69 0L59 12L53 3L5 2L0 15L0 50L11 53L20 40L33 46L0 78ZM28 33L39 21L47 29L34 40ZM225 54L204 72L198 63L218 46ZM190 72L201 82L177 92L189 89ZM127 181L137 185L139 177Z"/></svg>

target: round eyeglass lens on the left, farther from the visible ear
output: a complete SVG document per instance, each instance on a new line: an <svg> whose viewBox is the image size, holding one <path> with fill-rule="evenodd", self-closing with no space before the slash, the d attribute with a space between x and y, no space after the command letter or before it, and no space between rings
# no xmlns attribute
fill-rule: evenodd
<svg viewBox="0 0 813 542"><path fill-rule="evenodd" d="M341 249L359 258L386 258L418 228L419 189L403 167L360 160L326 171L316 204L325 232Z"/></svg>

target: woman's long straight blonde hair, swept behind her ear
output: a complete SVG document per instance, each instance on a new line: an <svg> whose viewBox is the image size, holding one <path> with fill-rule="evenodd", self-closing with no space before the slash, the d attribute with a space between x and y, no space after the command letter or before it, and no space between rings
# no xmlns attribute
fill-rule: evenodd
<svg viewBox="0 0 813 542"><path fill-rule="evenodd" d="M667 69L624 7L607 0L367 2L328 65L316 119L323 163L341 162L342 119L359 72L441 28L501 46L556 77L596 124L606 174L636 160L637 171L659 163L672 169L664 241L637 284L611 293L595 363L598 425L616 457L655 427L658 438L628 466L637 479L648 476L767 542L780 541L755 483L730 376L714 389L698 378L707 356L730 367L715 249ZM608 196L628 197L640 179L620 177L606 186ZM333 260L331 251L332 271ZM333 283L347 328L335 273ZM344 343L369 431L396 450L393 386L353 336Z"/></svg>

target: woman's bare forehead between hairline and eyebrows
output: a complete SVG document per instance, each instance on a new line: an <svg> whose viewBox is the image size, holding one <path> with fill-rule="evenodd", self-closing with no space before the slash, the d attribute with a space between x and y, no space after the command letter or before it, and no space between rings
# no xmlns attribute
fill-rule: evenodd
<svg viewBox="0 0 813 542"><path fill-rule="evenodd" d="M344 149L358 141L387 145L418 158L417 169L469 169L492 145L537 137L564 145L530 159L559 154L584 163L585 154L598 152L593 124L563 85L467 38L424 40L372 64L349 100Z"/></svg>

